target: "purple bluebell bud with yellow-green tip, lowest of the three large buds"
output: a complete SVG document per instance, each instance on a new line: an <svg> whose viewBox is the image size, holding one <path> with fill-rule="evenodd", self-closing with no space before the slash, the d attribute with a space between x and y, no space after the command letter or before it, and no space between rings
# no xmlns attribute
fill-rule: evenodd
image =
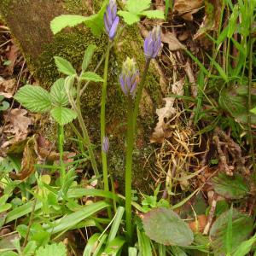
<svg viewBox="0 0 256 256"><path fill-rule="evenodd" d="M121 84L121 89L125 93L125 96L135 96L138 81L139 71L136 62L127 57L119 77L119 83Z"/></svg>

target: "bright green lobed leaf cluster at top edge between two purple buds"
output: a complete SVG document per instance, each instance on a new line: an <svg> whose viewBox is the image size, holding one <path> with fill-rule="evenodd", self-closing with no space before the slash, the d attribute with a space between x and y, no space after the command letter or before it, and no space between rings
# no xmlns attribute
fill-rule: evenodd
<svg viewBox="0 0 256 256"><path fill-rule="evenodd" d="M118 14L124 18L125 23L128 25L138 22L141 16L146 16L149 19L165 19L164 12L160 10L148 10L150 4L151 0L128 0L126 10L119 11Z"/></svg>

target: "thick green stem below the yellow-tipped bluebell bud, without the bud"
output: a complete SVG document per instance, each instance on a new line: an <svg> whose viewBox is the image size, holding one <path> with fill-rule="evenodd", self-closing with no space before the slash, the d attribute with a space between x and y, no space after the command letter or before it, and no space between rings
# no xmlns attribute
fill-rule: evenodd
<svg viewBox="0 0 256 256"><path fill-rule="evenodd" d="M132 170L132 151L134 144L134 125L132 114L132 99L128 96L127 109L127 148L126 148L126 164L125 164L125 220L128 244L132 241L131 226L131 170Z"/></svg>

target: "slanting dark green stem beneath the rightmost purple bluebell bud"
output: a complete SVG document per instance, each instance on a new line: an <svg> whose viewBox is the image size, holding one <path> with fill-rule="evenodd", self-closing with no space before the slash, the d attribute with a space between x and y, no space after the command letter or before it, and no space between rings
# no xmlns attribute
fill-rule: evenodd
<svg viewBox="0 0 256 256"><path fill-rule="evenodd" d="M136 96L136 100L135 100L134 113L133 113L134 131L136 131L136 129L137 129L137 127L136 127L137 126L137 115L138 115L138 110L139 110L139 106L140 106L140 101L141 101L142 96L143 96L143 87L144 87L144 84L145 84L145 81L146 81L150 61L151 61L151 59L147 59L147 61L145 63L145 67L144 67L144 71L143 71L143 77L142 77L142 80L141 80L141 82L140 82L140 84L138 85L138 88L137 88L137 96Z"/></svg>

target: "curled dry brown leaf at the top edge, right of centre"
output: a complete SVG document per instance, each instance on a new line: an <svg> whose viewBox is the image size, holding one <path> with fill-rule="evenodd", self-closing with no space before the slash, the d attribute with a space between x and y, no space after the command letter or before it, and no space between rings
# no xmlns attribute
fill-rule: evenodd
<svg viewBox="0 0 256 256"><path fill-rule="evenodd" d="M204 0L177 0L173 6L173 12L183 17L184 20L193 20L193 14L197 13L204 4Z"/></svg>

